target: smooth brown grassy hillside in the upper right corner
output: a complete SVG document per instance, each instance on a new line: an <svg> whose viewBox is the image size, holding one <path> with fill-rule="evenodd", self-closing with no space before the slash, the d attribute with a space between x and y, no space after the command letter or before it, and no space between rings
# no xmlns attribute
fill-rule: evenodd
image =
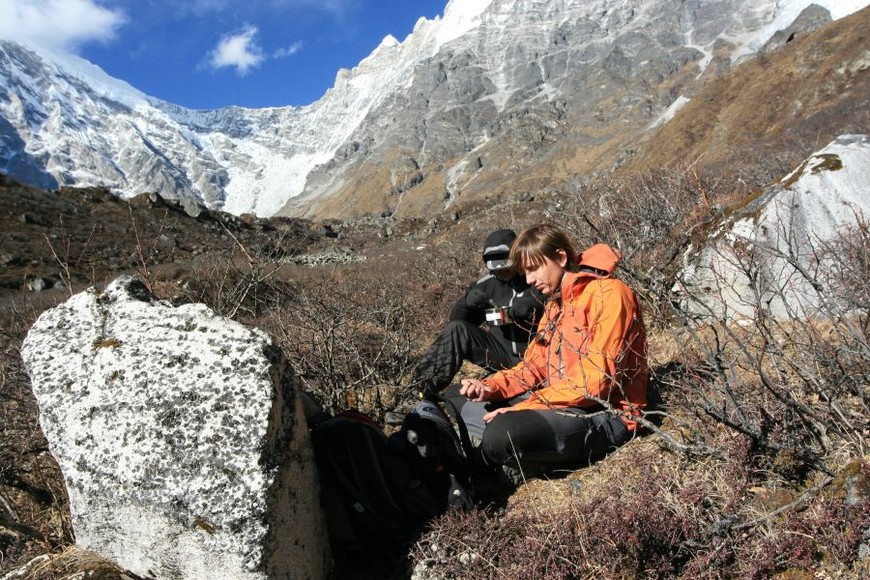
<svg viewBox="0 0 870 580"><path fill-rule="evenodd" d="M837 135L866 132L868 30L865 8L708 82L617 174L701 161L737 171L767 168L779 178Z"/></svg>

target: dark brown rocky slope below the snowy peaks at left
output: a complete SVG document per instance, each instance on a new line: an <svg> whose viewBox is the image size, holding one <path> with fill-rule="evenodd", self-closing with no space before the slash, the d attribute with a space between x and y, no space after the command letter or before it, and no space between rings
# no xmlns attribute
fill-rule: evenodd
<svg viewBox="0 0 870 580"><path fill-rule="evenodd" d="M3 176L0 232L0 299L21 290L64 295L136 270L189 276L193 265L230 256L239 246L292 258L327 233L307 220L242 219L204 209L192 217L157 194L124 201L102 188L47 191Z"/></svg>

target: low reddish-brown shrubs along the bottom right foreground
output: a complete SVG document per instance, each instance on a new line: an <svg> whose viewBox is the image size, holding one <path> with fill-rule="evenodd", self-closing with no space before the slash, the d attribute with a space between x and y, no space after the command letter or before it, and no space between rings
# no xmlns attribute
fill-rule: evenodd
<svg viewBox="0 0 870 580"><path fill-rule="evenodd" d="M645 444L577 474L567 493L538 482L522 508L449 513L414 546L415 570L472 579L860 575L870 504L845 490L870 482L865 463L839 485L827 479L797 494L759 481L751 456L733 451L699 460Z"/></svg>

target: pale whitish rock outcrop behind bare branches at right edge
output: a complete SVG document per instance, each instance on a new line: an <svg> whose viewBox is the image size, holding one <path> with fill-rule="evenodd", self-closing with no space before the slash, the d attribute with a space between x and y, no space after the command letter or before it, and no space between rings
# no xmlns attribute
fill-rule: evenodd
<svg viewBox="0 0 870 580"><path fill-rule="evenodd" d="M680 275L687 309L738 321L761 311L799 319L848 310L857 297L821 277L836 265L819 265L841 260L838 242L866 224L868 174L870 137L843 135L733 211Z"/></svg>

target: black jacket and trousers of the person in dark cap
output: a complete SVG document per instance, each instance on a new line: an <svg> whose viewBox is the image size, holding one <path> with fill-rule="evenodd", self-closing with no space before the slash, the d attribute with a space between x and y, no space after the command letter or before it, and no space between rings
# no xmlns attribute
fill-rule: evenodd
<svg viewBox="0 0 870 580"><path fill-rule="evenodd" d="M484 294L487 303L469 297ZM487 274L466 290L450 312L450 322L421 357L412 384L422 393L438 393L449 385L465 360L489 371L509 368L520 361L544 308L544 296L522 276L509 281ZM471 303L470 303L471 302ZM511 324L481 328L486 309L507 306L524 314Z"/></svg>

